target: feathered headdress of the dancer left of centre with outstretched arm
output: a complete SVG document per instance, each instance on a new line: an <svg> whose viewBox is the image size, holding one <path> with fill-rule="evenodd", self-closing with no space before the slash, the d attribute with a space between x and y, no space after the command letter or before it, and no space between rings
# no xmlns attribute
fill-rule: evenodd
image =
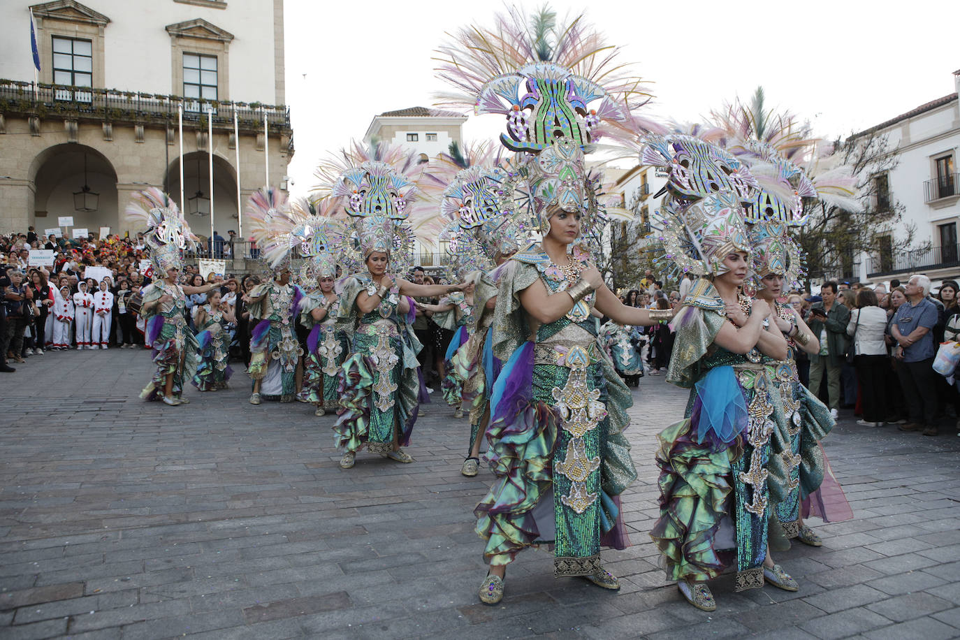
<svg viewBox="0 0 960 640"><path fill-rule="evenodd" d="M348 151L325 161L317 170L317 195L324 206L342 209L352 220L349 239L360 261L373 251L388 255L397 272L412 263L415 241L404 224L416 200L423 171L419 156L384 142L366 148L354 142Z"/></svg>

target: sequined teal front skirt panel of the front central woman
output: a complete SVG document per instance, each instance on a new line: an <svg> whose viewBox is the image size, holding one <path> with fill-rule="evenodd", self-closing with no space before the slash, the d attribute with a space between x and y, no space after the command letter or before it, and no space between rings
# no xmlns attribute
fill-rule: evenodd
<svg viewBox="0 0 960 640"><path fill-rule="evenodd" d="M534 397L548 402L564 418L553 455L556 518L554 575L588 576L600 568L600 454L607 415L600 368L589 365L586 350L570 368L534 367Z"/></svg>

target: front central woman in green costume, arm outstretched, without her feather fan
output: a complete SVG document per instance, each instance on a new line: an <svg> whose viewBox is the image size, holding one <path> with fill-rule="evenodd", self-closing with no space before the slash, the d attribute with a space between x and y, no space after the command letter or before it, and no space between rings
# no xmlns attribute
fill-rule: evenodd
<svg viewBox="0 0 960 640"><path fill-rule="evenodd" d="M600 547L629 544L618 496L636 479L623 434L633 399L590 311L646 326L672 315L623 305L577 244L602 220L580 147L562 138L538 160L529 183L543 239L504 267L492 320L492 352L505 364L486 433L496 480L474 510L490 564L484 604L500 602L507 564L539 544L553 546L555 577L619 589Z"/></svg>

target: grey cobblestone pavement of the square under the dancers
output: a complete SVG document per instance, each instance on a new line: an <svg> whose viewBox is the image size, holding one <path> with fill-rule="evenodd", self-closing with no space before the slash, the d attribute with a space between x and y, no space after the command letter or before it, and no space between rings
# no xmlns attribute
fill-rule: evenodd
<svg viewBox="0 0 960 640"><path fill-rule="evenodd" d="M146 404L149 371L144 351L73 351L0 377L0 637L960 636L952 428L924 438L848 412L824 444L855 519L813 520L824 546L778 556L799 592L736 594L725 576L707 614L664 581L647 535L655 436L685 401L648 376L629 432L634 546L604 554L622 590L555 580L528 551L488 607L470 511L490 475L460 475L466 420L428 406L416 462L361 454L344 471L332 417L254 407L242 372L230 391L191 388L189 406Z"/></svg>

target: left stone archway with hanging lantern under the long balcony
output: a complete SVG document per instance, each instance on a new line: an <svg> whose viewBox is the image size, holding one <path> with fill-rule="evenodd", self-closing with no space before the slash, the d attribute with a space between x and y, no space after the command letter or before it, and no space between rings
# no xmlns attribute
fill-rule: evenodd
<svg viewBox="0 0 960 640"><path fill-rule="evenodd" d="M60 216L71 216L73 228L86 228L93 233L101 226L110 227L110 233L120 230L116 170L108 157L96 149L76 143L48 147L36 154L28 175L35 186L32 222L37 232L58 227ZM74 206L73 194L81 191L84 184L98 194L94 211L78 211Z"/></svg>

